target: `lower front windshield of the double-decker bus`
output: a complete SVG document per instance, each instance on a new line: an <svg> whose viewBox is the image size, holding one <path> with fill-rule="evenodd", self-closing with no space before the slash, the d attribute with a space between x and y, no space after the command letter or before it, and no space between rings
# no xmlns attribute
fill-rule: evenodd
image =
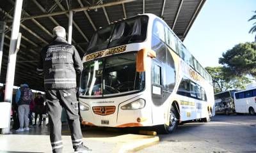
<svg viewBox="0 0 256 153"><path fill-rule="evenodd" d="M144 87L144 72L136 72L136 53L84 62L80 96L115 96L141 91Z"/></svg>

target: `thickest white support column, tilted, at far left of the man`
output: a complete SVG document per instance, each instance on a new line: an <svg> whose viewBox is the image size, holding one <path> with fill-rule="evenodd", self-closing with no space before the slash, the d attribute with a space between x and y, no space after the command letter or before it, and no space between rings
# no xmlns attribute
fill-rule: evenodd
<svg viewBox="0 0 256 153"><path fill-rule="evenodd" d="M12 36L11 36L10 48L9 48L8 68L7 68L7 74L6 74L6 87L5 87L4 101L7 103L10 103L10 108L12 106L13 82L14 82L15 64L16 64L16 57L17 57L16 47L17 47L17 40L19 36L19 30L20 30L20 15L22 11L22 2L23 0L16 0L15 2L15 11L14 11L13 25L12 25ZM7 118L6 120L8 120L9 124L7 128L2 130L2 134L10 133L10 114L11 114L10 108L8 110L8 116L6 117Z"/></svg>

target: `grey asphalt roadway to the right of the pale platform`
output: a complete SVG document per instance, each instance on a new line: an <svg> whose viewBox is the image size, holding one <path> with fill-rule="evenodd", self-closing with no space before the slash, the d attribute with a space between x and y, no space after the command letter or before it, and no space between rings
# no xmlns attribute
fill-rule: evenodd
<svg viewBox="0 0 256 153"><path fill-rule="evenodd" d="M256 115L216 115L212 122L191 122L171 135L159 135L148 152L256 152Z"/></svg>

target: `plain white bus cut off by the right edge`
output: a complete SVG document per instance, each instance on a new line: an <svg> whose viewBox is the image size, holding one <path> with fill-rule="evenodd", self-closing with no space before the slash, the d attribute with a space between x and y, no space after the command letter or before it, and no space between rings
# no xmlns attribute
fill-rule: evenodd
<svg viewBox="0 0 256 153"><path fill-rule="evenodd" d="M235 106L237 113L250 113L255 115L256 110L256 88L235 92Z"/></svg>

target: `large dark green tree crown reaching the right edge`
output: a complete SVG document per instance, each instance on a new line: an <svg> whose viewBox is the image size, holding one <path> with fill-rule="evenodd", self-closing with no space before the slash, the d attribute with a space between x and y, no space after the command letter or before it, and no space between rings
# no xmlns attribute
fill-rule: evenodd
<svg viewBox="0 0 256 153"><path fill-rule="evenodd" d="M256 77L256 42L239 43L222 54L219 63L230 70L230 75Z"/></svg>

